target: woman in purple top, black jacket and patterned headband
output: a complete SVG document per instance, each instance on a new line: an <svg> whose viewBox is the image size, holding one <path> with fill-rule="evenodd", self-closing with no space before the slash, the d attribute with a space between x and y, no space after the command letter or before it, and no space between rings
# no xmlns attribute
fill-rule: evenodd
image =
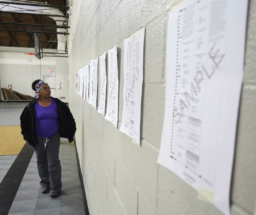
<svg viewBox="0 0 256 215"><path fill-rule="evenodd" d="M60 195L61 166L59 160L60 137L73 141L76 132L75 119L68 106L51 97L51 89L42 80L32 83L35 98L20 116L21 134L35 148L41 192Z"/></svg>

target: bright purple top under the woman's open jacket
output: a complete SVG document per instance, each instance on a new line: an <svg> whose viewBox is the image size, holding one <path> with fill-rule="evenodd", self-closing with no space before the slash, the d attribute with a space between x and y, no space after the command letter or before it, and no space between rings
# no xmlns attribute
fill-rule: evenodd
<svg viewBox="0 0 256 215"><path fill-rule="evenodd" d="M58 121L58 107L52 99L52 103L43 107L38 102L35 104L36 135L39 137L51 137L60 129Z"/></svg>

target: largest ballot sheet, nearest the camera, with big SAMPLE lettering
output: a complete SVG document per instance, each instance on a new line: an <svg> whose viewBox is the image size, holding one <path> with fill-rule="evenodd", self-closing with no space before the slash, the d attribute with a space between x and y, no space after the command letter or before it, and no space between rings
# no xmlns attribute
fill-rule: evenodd
<svg viewBox="0 0 256 215"><path fill-rule="evenodd" d="M230 214L247 1L190 0L170 12L157 162Z"/></svg>

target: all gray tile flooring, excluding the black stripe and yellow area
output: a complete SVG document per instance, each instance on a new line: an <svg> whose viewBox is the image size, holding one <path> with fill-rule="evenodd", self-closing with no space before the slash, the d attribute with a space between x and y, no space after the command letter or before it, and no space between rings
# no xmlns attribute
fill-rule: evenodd
<svg viewBox="0 0 256 215"><path fill-rule="evenodd" d="M19 125L19 117L26 104L26 102L20 104L0 102L0 126ZM17 155L0 156L0 183L16 157ZM61 138L60 161L62 166L61 195L52 198L50 193L40 192L40 178L34 153L8 215L85 215L75 145L69 144L65 138Z"/></svg>

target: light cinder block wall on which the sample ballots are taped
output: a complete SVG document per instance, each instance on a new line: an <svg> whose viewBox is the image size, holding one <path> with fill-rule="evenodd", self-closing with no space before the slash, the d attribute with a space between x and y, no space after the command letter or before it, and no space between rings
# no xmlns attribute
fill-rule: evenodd
<svg viewBox="0 0 256 215"><path fill-rule="evenodd" d="M72 2L72 1L71 1ZM168 11L179 0L76 0L70 11L69 106L91 215L219 215L196 191L156 163L164 119ZM249 2L244 83L231 186L231 214L253 214L256 198L256 0ZM75 91L75 73L116 45L118 128L123 110L123 40L146 26L141 146ZM108 65L107 65L108 68ZM108 72L108 71L107 71ZM99 92L100 83L98 83ZM99 96L99 94L98 94ZM98 97L99 102L99 97Z"/></svg>

